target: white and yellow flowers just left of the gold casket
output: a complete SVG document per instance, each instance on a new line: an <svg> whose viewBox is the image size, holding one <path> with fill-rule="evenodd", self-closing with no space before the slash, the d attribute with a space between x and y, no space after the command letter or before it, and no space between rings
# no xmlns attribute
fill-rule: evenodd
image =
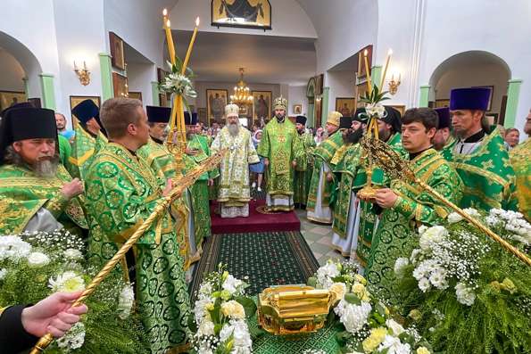
<svg viewBox="0 0 531 354"><path fill-rule="evenodd" d="M249 285L228 274L221 265L207 276L197 292L192 310L197 327L194 349L197 353L246 354L253 351L253 341L246 319L256 312L256 305L245 297Z"/></svg>

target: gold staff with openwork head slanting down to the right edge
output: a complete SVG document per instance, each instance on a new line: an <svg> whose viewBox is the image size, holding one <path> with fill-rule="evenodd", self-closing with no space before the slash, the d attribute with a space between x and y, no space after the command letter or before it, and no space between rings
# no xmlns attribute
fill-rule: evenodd
<svg viewBox="0 0 531 354"><path fill-rule="evenodd" d="M476 218L469 216L469 214L467 214L464 210L460 209L460 207L444 198L443 195L427 185L424 181L421 181L418 177L415 177L415 174L411 170L409 163L407 161L403 161L402 158L396 152L394 152L389 145L378 139L363 138L361 139L361 146L363 150L368 153L369 160L377 164L380 169L384 169L390 177L396 179L405 179L407 181L417 183L427 193L430 193L432 196L436 197L437 200L443 202L444 205L452 208L452 210L455 210L455 212L457 212L462 218L479 228L495 242L500 243L505 250L510 251L512 254L526 263L527 266L531 267L531 259L529 259L525 253L519 251L519 249L502 239L502 237L499 235L496 235L490 228L483 225Z"/></svg>

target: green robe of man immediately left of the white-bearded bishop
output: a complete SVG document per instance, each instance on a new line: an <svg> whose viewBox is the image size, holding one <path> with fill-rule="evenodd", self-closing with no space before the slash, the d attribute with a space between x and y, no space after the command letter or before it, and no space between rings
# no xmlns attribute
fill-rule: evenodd
<svg viewBox="0 0 531 354"><path fill-rule="evenodd" d="M201 164L211 155L208 138L194 134L194 136L187 141L188 149L197 149L198 153L195 156L188 156L188 166ZM194 220L195 220L195 244L197 249L200 249L203 239L211 235L211 211L209 204L209 178L216 178L220 175L218 169L213 169L210 172L205 172L195 184L190 188L192 191L192 200L194 204Z"/></svg>

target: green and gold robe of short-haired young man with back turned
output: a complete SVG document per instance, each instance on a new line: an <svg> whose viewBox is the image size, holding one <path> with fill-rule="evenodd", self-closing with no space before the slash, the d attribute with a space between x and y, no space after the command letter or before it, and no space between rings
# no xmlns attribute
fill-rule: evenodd
<svg viewBox="0 0 531 354"><path fill-rule="evenodd" d="M142 158L120 144L106 144L87 169L89 259L111 259L162 199L157 178ZM166 211L134 246L137 309L152 353L187 342L190 313L183 259L174 220Z"/></svg>

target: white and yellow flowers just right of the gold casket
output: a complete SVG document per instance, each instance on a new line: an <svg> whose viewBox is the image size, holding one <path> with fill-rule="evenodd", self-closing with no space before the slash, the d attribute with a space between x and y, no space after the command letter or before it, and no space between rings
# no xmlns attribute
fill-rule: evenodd
<svg viewBox="0 0 531 354"><path fill-rule="evenodd" d="M353 354L428 354L430 345L414 327L404 328L396 322L386 305L373 298L366 288L367 280L358 274L352 261L334 261L317 270L308 284L329 289L340 296L334 308L336 338L342 352Z"/></svg>

